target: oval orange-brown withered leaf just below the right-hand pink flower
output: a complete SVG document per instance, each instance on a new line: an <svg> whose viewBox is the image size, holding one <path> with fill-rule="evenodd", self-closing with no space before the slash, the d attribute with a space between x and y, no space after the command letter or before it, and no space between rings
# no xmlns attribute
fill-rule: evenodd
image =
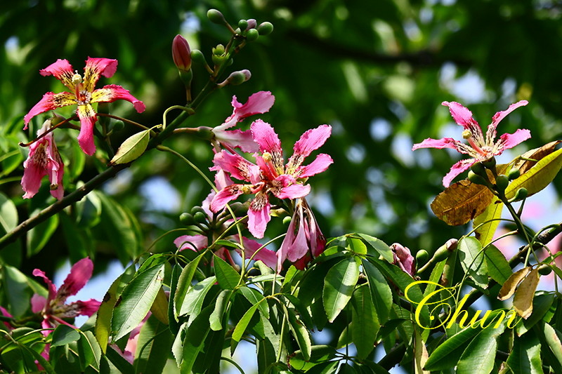
<svg viewBox="0 0 562 374"><path fill-rule="evenodd" d="M436 196L431 210L447 225L464 225L492 203L494 195L483 185L461 180Z"/></svg>

